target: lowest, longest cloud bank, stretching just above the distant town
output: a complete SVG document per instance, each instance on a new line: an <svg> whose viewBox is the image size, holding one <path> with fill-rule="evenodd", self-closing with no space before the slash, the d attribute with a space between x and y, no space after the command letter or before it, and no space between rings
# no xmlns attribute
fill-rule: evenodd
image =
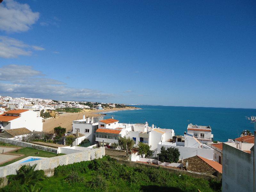
<svg viewBox="0 0 256 192"><path fill-rule="evenodd" d="M102 93L98 90L68 87L64 82L44 76L41 71L31 66L5 65L0 68L0 93L15 97L23 95L70 100L116 97L114 94Z"/></svg>

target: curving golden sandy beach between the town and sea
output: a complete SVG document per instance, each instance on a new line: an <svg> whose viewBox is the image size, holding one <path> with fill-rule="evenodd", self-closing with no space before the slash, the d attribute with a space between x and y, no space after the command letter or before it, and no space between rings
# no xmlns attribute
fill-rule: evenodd
<svg viewBox="0 0 256 192"><path fill-rule="evenodd" d="M81 113L62 113L59 117L51 118L45 120L43 122L43 131L50 132L54 127L64 127L67 132L72 130L72 121L83 119L83 115L86 116L100 116L100 114L104 114L104 112L109 111L121 111L121 110L134 110L136 108L116 108L116 109L104 109L104 110L88 110Z"/></svg>

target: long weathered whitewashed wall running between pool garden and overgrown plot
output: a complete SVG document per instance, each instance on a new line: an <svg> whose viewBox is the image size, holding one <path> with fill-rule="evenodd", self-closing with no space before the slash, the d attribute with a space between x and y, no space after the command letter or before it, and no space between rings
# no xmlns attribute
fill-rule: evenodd
<svg viewBox="0 0 256 192"><path fill-rule="evenodd" d="M19 170L22 165L30 164L34 165L37 164L36 170L52 170L59 165L67 165L73 164L81 161L90 161L95 158L102 158L105 155L104 148L96 148L90 149L78 153L63 155L63 156L56 156L46 159L37 160L35 162L27 162L23 164L14 164L14 165L7 165L4 167L0 167L0 178L6 177L7 175L16 174L16 170ZM48 172L48 176L51 176L52 172Z"/></svg>

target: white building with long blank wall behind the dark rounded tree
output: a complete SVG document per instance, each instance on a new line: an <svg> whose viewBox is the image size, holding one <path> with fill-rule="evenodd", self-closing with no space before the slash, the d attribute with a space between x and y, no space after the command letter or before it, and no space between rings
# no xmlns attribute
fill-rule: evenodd
<svg viewBox="0 0 256 192"><path fill-rule="evenodd" d="M180 151L180 159L186 159L193 156L201 156L206 159L213 160L214 149L209 146L200 143L195 137L184 134L184 142L182 142L182 136L177 136L173 142L159 142L157 145L157 152L161 152L161 147L165 148L178 148ZM180 140L179 140L180 139Z"/></svg>

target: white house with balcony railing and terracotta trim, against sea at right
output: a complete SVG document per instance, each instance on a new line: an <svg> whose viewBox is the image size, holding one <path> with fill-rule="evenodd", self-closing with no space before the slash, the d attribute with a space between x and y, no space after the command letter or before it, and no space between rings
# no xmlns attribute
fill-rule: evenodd
<svg viewBox="0 0 256 192"><path fill-rule="evenodd" d="M188 124L188 135L194 136L201 143L213 140L212 129L210 126Z"/></svg>

